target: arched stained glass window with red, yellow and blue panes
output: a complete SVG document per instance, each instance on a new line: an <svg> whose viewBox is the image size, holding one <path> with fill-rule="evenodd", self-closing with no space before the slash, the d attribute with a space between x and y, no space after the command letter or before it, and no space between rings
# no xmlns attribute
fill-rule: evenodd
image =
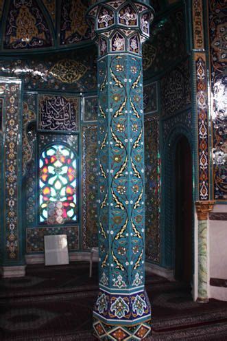
<svg viewBox="0 0 227 341"><path fill-rule="evenodd" d="M76 157L71 148L53 144L39 159L40 223L77 220ZM57 219L54 215L57 210Z"/></svg>

